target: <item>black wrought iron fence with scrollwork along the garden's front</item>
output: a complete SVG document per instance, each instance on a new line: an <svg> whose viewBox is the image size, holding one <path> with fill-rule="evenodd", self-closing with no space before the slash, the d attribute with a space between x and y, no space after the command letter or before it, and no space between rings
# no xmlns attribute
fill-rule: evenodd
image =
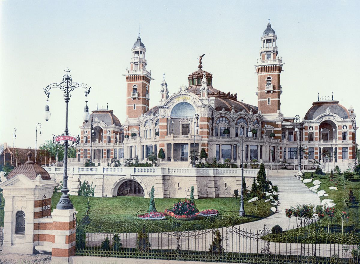
<svg viewBox="0 0 360 264"><path fill-rule="evenodd" d="M318 242L316 219L305 217L292 241L274 242L270 230L239 226L216 227L226 214L209 217L201 230L174 231L180 221L118 223L116 228L92 227L80 220L76 255L123 258L197 260L234 263L359 263L359 245ZM220 219L221 220L221 219ZM156 228L156 229L154 229ZM127 231L128 230L128 231ZM154 231L156 230L156 231ZM150 232L149 232L150 231ZM286 232L285 232L286 233Z"/></svg>

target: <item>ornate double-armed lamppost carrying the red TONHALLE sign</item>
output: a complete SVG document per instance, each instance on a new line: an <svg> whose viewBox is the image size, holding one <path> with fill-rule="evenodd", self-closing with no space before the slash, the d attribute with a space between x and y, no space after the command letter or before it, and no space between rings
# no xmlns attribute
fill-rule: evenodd
<svg viewBox="0 0 360 264"><path fill-rule="evenodd" d="M88 87L85 83L80 83L80 82L72 82L72 77L70 75L70 70L66 69L65 70L65 75L63 76L63 81L62 82L58 82L58 83L52 83L48 86L46 86L46 88L44 88L44 92L45 94L48 96L50 95L50 89L52 88L59 88L61 91L64 92L63 96L64 96L64 100L65 100L65 137L68 136L68 104L69 104L69 100L70 100L70 96L71 96L71 92L75 89L75 88L84 88L85 89L85 97L90 93L90 89L91 87ZM85 107L85 112L86 112L86 108ZM87 108L87 114L84 112L84 121L89 120L89 111ZM45 106L45 120L48 121L50 118L50 111L49 111L49 106L46 105ZM87 118L87 120L85 119ZM64 174L63 174L63 188L61 189L62 195L60 197L60 200L58 202L58 204L56 205L56 209L59 210L67 210L67 209L72 209L74 208L73 204L71 203L71 200L69 199L69 189L67 188L67 153L68 153L68 140L64 140Z"/></svg>

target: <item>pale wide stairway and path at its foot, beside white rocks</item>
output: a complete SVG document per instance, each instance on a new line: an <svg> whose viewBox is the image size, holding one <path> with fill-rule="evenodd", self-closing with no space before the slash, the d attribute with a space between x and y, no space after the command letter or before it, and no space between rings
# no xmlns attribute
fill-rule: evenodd
<svg viewBox="0 0 360 264"><path fill-rule="evenodd" d="M320 204L320 197L294 177L294 172L289 171L288 176L277 176L276 172L271 174L272 176L269 175L268 178L273 185L277 185L279 188L279 204L276 213L258 221L240 224L240 228L256 231L264 228L264 224L270 229L276 224L281 226L283 230L296 228L299 221L295 217L289 220L285 215L285 209L290 206L296 207L298 204L312 204L314 206Z"/></svg>

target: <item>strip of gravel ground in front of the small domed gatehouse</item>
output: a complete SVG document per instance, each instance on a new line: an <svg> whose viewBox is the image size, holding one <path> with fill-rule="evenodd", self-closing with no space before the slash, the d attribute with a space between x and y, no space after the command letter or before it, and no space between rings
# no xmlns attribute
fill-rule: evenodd
<svg viewBox="0 0 360 264"><path fill-rule="evenodd" d="M51 255L1 254L0 264L49 264Z"/></svg>

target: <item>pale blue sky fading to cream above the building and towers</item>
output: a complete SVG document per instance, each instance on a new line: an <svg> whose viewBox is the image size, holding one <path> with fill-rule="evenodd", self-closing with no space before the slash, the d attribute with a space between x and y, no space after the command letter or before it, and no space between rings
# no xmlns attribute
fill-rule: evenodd
<svg viewBox="0 0 360 264"><path fill-rule="evenodd" d="M359 1L1 1L0 142L35 147L64 129L64 101L51 91L49 122L42 88L73 80L91 86L90 110L109 104L125 120L125 77L138 36L147 49L150 106L158 104L162 74L170 94L197 69L213 73L213 86L257 105L255 63L267 19L278 35L284 72L281 111L303 117L320 95L360 113ZM74 91L69 131L82 124L85 97ZM360 121L359 121L360 122Z"/></svg>

